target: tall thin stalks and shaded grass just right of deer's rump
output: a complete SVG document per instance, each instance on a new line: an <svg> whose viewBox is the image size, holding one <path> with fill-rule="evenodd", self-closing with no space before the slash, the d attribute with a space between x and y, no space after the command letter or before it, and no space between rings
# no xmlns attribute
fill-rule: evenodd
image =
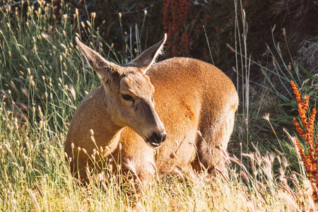
<svg viewBox="0 0 318 212"><path fill-rule="evenodd" d="M233 47L227 47L235 53L236 64L232 69L236 73L237 91L240 93L240 111L237 113L235 122L235 142L240 146L233 146L238 152L252 148L251 142L259 146L260 151L279 151L290 155L291 160L295 160L295 148L287 141L282 129L293 129L293 115L298 110L297 103L293 100L293 89L290 86L290 79L300 86L300 90L310 95L312 106L317 102L317 74L307 71L298 61L293 59L288 48L288 32L282 30L284 45L276 42L273 32L276 26L273 25L271 35L273 37L273 49L265 44L267 58L269 61L255 61L248 53L247 49L247 32L248 23L246 20L242 1L234 1L235 6L235 43ZM287 56L287 57L286 57ZM253 66L252 66L253 65ZM252 68L251 68L252 67ZM257 70L259 69L259 70ZM254 72L254 79L259 78L257 82L251 81L250 73ZM255 73L259 73L258 77ZM269 133L272 127L261 120L265 113L271 113L271 122L278 126L278 131L274 131L275 136L269 138L268 134L260 136L262 131ZM266 145L265 145L266 144ZM295 160L296 163L297 160Z"/></svg>

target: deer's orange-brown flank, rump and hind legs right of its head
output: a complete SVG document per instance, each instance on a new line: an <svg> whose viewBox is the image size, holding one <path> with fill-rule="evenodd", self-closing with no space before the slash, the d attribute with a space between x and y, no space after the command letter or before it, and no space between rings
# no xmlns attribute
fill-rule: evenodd
<svg viewBox="0 0 318 212"><path fill-rule="evenodd" d="M221 151L228 147L238 105L230 78L216 66L189 58L162 61L148 76L155 87L156 111L167 131L167 141L156 157L158 169L192 164L198 170L196 155L204 167L222 168Z"/></svg>

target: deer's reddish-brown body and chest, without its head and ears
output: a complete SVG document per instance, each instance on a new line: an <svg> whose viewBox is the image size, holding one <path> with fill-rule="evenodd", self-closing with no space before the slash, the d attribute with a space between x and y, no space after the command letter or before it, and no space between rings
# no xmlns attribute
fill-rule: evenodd
<svg viewBox="0 0 318 212"><path fill-rule="evenodd" d="M136 60L138 63L138 58ZM134 65L122 68L133 72L139 69ZM93 129L95 143L103 147L103 156L112 154L112 157L118 158L120 154L124 162L122 169L128 171L133 166L134 172L144 182L155 174L155 168L160 172L172 172L180 168L191 172L193 169L199 170L201 165L208 172L215 166L223 168L222 150L225 151L228 146L238 105L232 81L215 66L189 58L161 61L149 66L146 75L155 89L154 93L147 94L151 98L153 95L155 100L154 115L147 114L146 119L156 119L150 134L156 131L155 135L158 136L148 136L134 129L135 126L130 126L130 123L126 126L114 123L116 121L112 120L116 118L115 110L118 108L110 106L110 93L105 91L107 88L104 84L88 94L74 114L66 139L66 153L78 155L78 147L81 147L86 149L88 155L93 154L93 148L96 148L90 139L90 129ZM119 81L120 78L114 78L111 82L117 85L110 89L117 89L114 93L122 89L118 86ZM143 127L143 123L136 125ZM163 142L165 131L167 139ZM147 129L147 132L150 130ZM150 137L155 139L149 141ZM157 146L156 143L163 144L154 155L153 149L145 141L153 147ZM71 143L74 144L73 150ZM79 172L84 179L87 177L85 167L90 165L85 155L79 152L78 166L71 163L71 170L75 174ZM71 158L77 162L74 156Z"/></svg>

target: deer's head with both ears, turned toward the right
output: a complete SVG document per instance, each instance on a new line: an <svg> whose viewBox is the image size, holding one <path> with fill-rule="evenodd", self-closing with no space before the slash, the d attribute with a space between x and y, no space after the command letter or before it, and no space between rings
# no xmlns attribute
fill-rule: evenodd
<svg viewBox="0 0 318 212"><path fill-rule="evenodd" d="M105 96L101 100L112 123L133 129L153 148L165 141L166 133L155 112L154 88L146 72L161 53L166 37L125 66L107 61L76 37L88 64L102 81Z"/></svg>

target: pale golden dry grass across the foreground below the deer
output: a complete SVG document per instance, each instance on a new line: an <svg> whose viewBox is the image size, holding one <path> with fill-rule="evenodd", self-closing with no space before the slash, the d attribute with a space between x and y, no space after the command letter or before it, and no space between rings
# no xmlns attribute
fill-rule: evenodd
<svg viewBox="0 0 318 212"><path fill-rule="evenodd" d="M3 105L1 105L1 108ZM204 172L184 179L159 176L144 194L134 184L120 184L114 175L87 187L79 186L64 162L61 147L45 134L17 122L1 110L0 208L3 211L310 211L312 187L290 172L283 154L243 154L246 167L228 158L228 173L209 179ZM22 124L22 126L21 126ZM34 124L34 123L33 123ZM35 124L36 125L36 124ZM27 130L28 129L28 130ZM64 139L61 135L57 140ZM60 141L57 141L59 143ZM279 173L273 170L274 161ZM160 175L160 174L159 174Z"/></svg>

